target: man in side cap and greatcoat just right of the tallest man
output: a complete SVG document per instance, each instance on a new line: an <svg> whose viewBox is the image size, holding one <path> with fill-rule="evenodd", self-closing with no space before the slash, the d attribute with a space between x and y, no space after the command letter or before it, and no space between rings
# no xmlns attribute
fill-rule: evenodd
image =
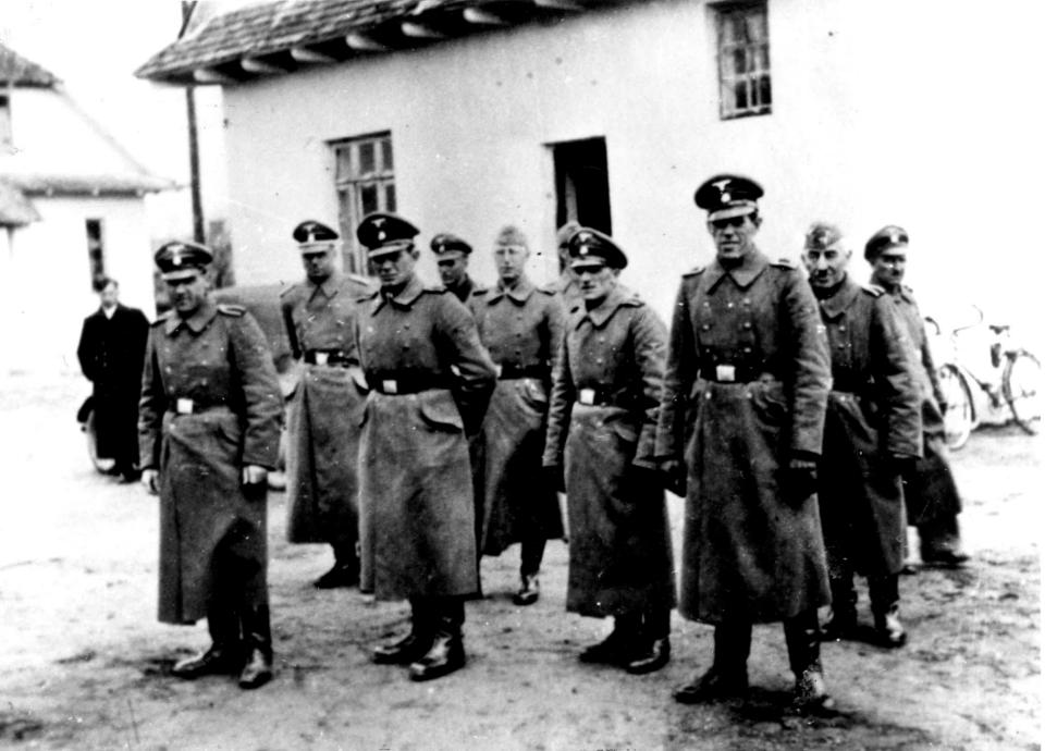
<svg viewBox="0 0 1045 751"><path fill-rule="evenodd" d="M902 468L922 450L921 391L910 337L885 291L847 273L852 251L813 224L802 260L827 328L832 389L820 461L820 516L831 576L825 639L857 635L853 573L868 577L876 640L902 647L899 574L907 519Z"/></svg>

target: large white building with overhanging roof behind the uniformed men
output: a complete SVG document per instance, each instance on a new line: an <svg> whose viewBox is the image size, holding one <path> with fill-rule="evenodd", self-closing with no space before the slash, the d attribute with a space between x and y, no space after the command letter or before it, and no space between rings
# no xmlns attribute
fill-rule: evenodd
<svg viewBox="0 0 1045 751"><path fill-rule="evenodd" d="M485 248L505 223L544 250L577 218L630 253L627 283L667 315L712 247L694 187L766 188L760 244L797 258L831 219L859 257L906 226L923 298L1032 299L1033 113L1013 74L1026 3L924 0L282 0L208 7L137 74L223 87L229 221L241 283L300 274L291 227L395 209ZM1028 39L1030 41L1030 39ZM1003 54L1001 51L1005 51ZM1004 120L999 121L999 116ZM1026 213L1024 213L1026 212ZM863 278L862 260L853 266Z"/></svg>

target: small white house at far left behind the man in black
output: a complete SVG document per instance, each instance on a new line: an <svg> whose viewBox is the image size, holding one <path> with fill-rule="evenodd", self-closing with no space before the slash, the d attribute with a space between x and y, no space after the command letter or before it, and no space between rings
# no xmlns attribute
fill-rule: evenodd
<svg viewBox="0 0 1045 751"><path fill-rule="evenodd" d="M41 66L0 46L0 372L75 370L93 282L151 312L150 174Z"/></svg>

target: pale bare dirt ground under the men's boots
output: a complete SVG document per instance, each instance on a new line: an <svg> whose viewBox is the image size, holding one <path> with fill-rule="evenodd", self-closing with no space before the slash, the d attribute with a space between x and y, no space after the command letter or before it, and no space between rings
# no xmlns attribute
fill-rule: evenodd
<svg viewBox="0 0 1045 751"><path fill-rule="evenodd" d="M955 455L973 561L902 578L905 649L825 645L832 716L787 711L778 625L755 628L746 703L671 699L711 656L711 629L677 615L662 672L579 664L608 624L565 613L563 543L550 545L544 594L529 608L509 599L518 552L484 561L468 666L411 684L368 658L406 626L406 606L312 589L330 553L284 542L282 493L269 501L276 677L244 692L231 678L169 675L206 645L206 629L157 623L157 502L91 468L74 421L86 394L73 378L0 382L2 748L1041 748L1042 439L992 429ZM669 507L677 542L681 502Z"/></svg>

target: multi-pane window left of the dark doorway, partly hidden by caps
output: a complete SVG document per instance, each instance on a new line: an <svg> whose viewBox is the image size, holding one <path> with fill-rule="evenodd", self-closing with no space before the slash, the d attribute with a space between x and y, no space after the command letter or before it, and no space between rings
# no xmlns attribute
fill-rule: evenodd
<svg viewBox="0 0 1045 751"><path fill-rule="evenodd" d="M346 271L366 273L367 257L356 243L356 226L372 211L395 211L392 135L379 133L336 141L331 147L344 267Z"/></svg>

